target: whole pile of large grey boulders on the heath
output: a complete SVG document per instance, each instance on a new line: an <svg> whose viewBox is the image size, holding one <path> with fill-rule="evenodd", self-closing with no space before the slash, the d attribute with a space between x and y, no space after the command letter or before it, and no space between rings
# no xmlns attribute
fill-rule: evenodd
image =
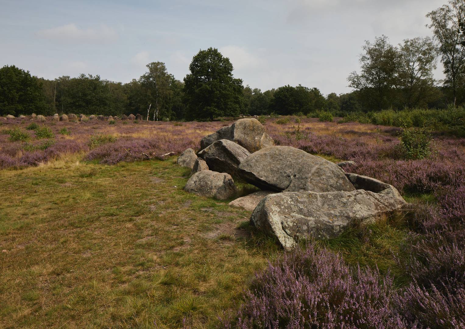
<svg viewBox="0 0 465 329"><path fill-rule="evenodd" d="M180 166L191 168L185 190L219 200L237 195L233 177L261 190L229 204L252 211L250 222L284 248L300 239L335 237L355 225L379 221L405 205L396 188L345 173L345 165L289 146L275 146L261 123L239 119L186 149Z"/></svg>

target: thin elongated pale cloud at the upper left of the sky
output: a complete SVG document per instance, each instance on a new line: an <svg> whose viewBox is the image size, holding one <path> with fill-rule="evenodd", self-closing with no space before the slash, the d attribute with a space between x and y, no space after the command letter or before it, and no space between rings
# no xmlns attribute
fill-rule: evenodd
<svg viewBox="0 0 465 329"><path fill-rule="evenodd" d="M44 39L80 42L112 42L118 39L118 34L111 27L101 24L96 28L83 29L76 24L67 24L37 32Z"/></svg>

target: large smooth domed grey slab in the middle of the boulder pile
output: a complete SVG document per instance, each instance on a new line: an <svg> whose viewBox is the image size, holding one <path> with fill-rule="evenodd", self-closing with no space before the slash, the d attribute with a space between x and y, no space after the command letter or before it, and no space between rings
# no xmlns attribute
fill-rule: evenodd
<svg viewBox="0 0 465 329"><path fill-rule="evenodd" d="M344 171L331 161L290 146L262 148L244 159L238 172L245 181L262 190L333 192L355 189Z"/></svg>

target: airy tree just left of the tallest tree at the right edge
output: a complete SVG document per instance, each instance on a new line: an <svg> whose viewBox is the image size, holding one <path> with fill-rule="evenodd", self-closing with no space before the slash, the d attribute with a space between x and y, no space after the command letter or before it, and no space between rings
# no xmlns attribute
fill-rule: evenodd
<svg viewBox="0 0 465 329"><path fill-rule="evenodd" d="M427 105L434 89L437 52L431 38L405 39L399 44L399 83L407 107Z"/></svg>

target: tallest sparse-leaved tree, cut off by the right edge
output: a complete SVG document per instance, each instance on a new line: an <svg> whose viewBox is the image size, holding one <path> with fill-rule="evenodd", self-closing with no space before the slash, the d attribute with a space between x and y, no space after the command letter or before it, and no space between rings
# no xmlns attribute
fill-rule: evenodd
<svg viewBox="0 0 465 329"><path fill-rule="evenodd" d="M452 90L452 102L457 102L457 91L465 74L465 34L462 30L465 17L465 0L450 0L426 15L431 19L434 37L439 42L441 62L444 65L445 86Z"/></svg>

